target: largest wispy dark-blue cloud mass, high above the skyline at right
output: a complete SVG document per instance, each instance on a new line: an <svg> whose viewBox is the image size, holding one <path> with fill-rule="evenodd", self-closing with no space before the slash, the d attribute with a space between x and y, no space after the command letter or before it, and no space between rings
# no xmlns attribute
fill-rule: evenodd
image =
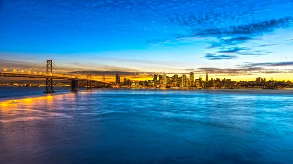
<svg viewBox="0 0 293 164"><path fill-rule="evenodd" d="M170 21L172 23L179 23L182 29L187 31L187 34L169 40L148 40L147 43L156 44L157 46L160 44L160 46L168 46L172 43L190 43L206 39L209 44L207 48L214 50L214 53L205 54L204 59L237 59L240 55L267 55L272 53L266 49L256 49L256 47L269 47L278 44L272 43L258 46L253 45L254 43L251 41L260 40L261 36L269 34L278 28L293 27L293 17L290 16L252 23L242 22L240 25L235 25L239 23L228 23L229 25L222 26L221 24L225 22L223 17L224 15L221 14L201 17L191 14L188 18L181 18L179 14L176 14ZM233 20L231 21L233 22ZM227 53L230 55L225 55Z"/></svg>

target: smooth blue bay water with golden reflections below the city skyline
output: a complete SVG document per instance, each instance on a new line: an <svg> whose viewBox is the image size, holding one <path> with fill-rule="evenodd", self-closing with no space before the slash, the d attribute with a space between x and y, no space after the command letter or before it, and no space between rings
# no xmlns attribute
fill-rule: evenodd
<svg viewBox="0 0 293 164"><path fill-rule="evenodd" d="M0 91L0 164L293 164L293 91Z"/></svg>

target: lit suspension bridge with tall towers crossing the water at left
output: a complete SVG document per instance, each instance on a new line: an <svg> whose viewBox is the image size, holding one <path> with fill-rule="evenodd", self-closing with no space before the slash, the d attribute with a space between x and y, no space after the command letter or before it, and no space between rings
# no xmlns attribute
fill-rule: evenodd
<svg viewBox="0 0 293 164"><path fill-rule="evenodd" d="M54 70L54 73L53 73ZM28 78L45 78L46 89L43 93L55 93L53 90L53 79L71 80L70 91L78 91L78 81L86 81L87 90L92 89L92 83L102 83L104 86L111 86L111 83L105 80L105 76L100 79L95 78L91 71L86 71L85 74L74 75L65 73L52 60L47 60L42 64L25 70L13 70L0 72L1 77L28 77Z"/></svg>

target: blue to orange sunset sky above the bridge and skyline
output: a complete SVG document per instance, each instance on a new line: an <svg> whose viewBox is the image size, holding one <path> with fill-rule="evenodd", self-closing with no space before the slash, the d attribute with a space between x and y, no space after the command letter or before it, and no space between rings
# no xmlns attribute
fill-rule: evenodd
<svg viewBox="0 0 293 164"><path fill-rule="evenodd" d="M0 0L0 69L293 81L293 0Z"/></svg>

